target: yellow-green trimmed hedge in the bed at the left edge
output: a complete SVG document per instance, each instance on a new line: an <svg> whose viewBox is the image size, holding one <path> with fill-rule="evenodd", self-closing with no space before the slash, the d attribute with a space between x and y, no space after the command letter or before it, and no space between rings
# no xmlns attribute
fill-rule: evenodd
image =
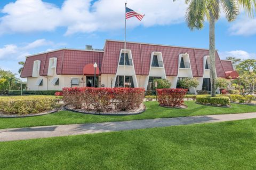
<svg viewBox="0 0 256 170"><path fill-rule="evenodd" d="M37 114L57 107L55 96L3 96L0 97L0 112L6 115Z"/></svg>

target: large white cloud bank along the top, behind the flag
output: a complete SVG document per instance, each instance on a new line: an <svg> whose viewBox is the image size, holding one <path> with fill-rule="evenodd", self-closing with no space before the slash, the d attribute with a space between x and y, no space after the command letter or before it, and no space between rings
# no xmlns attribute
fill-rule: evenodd
<svg viewBox="0 0 256 170"><path fill-rule="evenodd" d="M0 18L0 34L27 33L30 31L51 31L66 27L66 35L91 33L124 27L124 1L66 0L61 7L42 0L19 0L4 6ZM127 20L127 27L140 24L149 27L170 25L184 21L184 1L133 0L127 5L146 14L139 22L136 18Z"/></svg>

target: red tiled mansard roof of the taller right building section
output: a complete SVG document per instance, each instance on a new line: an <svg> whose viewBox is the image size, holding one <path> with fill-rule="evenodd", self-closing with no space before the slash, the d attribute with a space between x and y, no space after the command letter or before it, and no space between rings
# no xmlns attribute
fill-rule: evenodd
<svg viewBox="0 0 256 170"><path fill-rule="evenodd" d="M119 53L122 48L124 48L124 42L106 41L101 74L116 74ZM202 77L203 58L204 56L209 55L209 50L200 48L175 47L145 43L129 42L126 43L126 48L132 52L134 68L137 75L148 75L151 53L162 52L166 76L178 75L179 54L188 53L193 76ZM222 67L221 60L217 52L216 70L218 77L226 77L225 70Z"/></svg>

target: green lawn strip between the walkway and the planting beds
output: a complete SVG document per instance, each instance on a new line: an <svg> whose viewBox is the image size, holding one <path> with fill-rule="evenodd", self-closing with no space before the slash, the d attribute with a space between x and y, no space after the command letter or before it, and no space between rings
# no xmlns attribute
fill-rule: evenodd
<svg viewBox="0 0 256 170"><path fill-rule="evenodd" d="M0 129L13 127L31 127L44 125L63 125L81 123L114 122L137 119L154 119L180 116L235 114L243 112L255 112L256 106L232 104L231 108L218 108L202 106L194 101L186 101L187 109L170 109L159 107L157 102L145 102L147 110L140 115L133 116L101 116L86 115L71 111L59 111L54 114L26 117L26 118L0 118Z"/></svg>

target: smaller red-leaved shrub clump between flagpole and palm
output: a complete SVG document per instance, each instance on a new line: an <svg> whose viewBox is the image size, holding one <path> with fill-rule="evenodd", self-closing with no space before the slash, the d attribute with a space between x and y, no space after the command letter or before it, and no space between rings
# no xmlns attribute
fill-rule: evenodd
<svg viewBox="0 0 256 170"><path fill-rule="evenodd" d="M187 91L183 88L157 89L158 102L161 106L180 107L184 103Z"/></svg>

